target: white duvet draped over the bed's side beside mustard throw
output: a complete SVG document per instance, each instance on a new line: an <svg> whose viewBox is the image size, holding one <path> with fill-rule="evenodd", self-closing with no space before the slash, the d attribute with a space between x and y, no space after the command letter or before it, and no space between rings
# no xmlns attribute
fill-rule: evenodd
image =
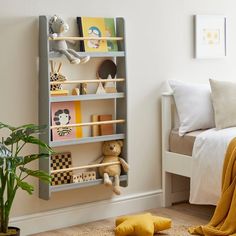
<svg viewBox="0 0 236 236"><path fill-rule="evenodd" d="M221 172L229 142L236 128L209 129L197 136L193 147L190 203L216 205L221 191Z"/></svg>

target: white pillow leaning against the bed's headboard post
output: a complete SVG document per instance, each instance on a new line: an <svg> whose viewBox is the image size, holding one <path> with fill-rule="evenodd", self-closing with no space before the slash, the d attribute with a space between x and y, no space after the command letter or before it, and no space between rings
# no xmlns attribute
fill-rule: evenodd
<svg viewBox="0 0 236 236"><path fill-rule="evenodd" d="M169 80L179 115L179 135L215 126L210 86Z"/></svg>

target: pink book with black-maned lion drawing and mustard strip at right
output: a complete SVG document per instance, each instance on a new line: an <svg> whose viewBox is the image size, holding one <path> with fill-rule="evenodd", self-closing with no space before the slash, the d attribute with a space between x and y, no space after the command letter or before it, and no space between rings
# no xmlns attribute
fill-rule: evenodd
<svg viewBox="0 0 236 236"><path fill-rule="evenodd" d="M68 125L81 123L80 102L53 102L51 104L51 124ZM52 129L52 141L82 137L81 127L60 127Z"/></svg>

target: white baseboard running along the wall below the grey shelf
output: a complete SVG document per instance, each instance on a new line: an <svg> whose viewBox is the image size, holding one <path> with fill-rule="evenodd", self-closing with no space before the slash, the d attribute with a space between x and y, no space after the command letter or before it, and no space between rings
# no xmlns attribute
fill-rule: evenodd
<svg viewBox="0 0 236 236"><path fill-rule="evenodd" d="M11 225L21 229L21 235L31 235L161 207L161 195L162 190L126 195L74 207L15 217L10 222Z"/></svg>

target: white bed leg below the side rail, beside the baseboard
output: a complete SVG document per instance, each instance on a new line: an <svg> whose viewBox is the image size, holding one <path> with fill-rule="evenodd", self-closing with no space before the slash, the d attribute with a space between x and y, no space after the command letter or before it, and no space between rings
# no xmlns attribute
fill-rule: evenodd
<svg viewBox="0 0 236 236"><path fill-rule="evenodd" d="M169 207L172 205L172 178L171 174L163 171L162 173L162 206Z"/></svg>

